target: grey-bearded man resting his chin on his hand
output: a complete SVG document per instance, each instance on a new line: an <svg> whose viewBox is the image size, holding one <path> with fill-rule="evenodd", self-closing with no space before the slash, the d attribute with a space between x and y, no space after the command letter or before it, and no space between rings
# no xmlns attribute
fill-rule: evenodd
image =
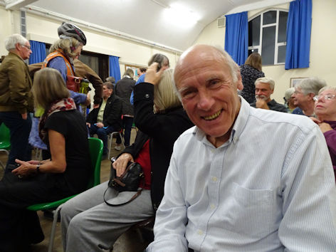
<svg viewBox="0 0 336 252"><path fill-rule="evenodd" d="M258 78L254 83L256 86L256 103L251 103L252 107L263 108L264 110L274 110L279 112L288 112L287 107L271 99L274 92L275 82L271 78Z"/></svg>

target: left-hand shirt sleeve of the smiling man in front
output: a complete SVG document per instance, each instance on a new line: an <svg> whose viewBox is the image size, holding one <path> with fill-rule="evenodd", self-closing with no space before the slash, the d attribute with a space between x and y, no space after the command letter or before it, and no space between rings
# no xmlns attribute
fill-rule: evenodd
<svg viewBox="0 0 336 252"><path fill-rule="evenodd" d="M181 182L178 176L178 164L174 152L169 164L166 181L164 182L164 197L155 217L155 239L147 248L147 251L150 252L188 251L188 243L185 238L187 206L182 194Z"/></svg>

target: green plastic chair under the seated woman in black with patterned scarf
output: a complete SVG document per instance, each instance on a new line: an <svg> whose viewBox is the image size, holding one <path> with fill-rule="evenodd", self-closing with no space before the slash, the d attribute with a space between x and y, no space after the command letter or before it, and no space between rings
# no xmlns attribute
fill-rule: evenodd
<svg viewBox="0 0 336 252"><path fill-rule="evenodd" d="M90 177L90 181L87 188L90 189L91 187L95 187L96 185L100 184L100 162L103 155L103 141L94 137L89 137L88 140L90 148L91 167L93 169L93 176ZM62 205L76 195L78 194L68 196L58 201L34 204L27 207L27 209L31 211L54 209L57 207L57 209L53 213L53 226L51 226L51 235L48 246L48 251L50 252L53 251L53 239L55 237L56 232L58 213L61 211Z"/></svg>

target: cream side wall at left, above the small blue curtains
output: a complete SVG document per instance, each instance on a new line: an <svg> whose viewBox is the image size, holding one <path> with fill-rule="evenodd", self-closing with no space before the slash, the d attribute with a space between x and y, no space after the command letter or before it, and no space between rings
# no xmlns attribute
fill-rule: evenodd
<svg viewBox="0 0 336 252"><path fill-rule="evenodd" d="M60 25L61 21L56 19L26 12L27 38L30 40L53 43L58 39L57 28ZM172 68L176 65L179 55L171 51L127 41L124 38L93 31L90 28L83 28L81 26L80 28L83 29L88 40L83 50L119 56L121 75L125 71L125 64L147 66L149 58L154 53L166 55ZM8 53L4 48L4 38L12 33L20 33L19 11L6 11L4 6L0 6L0 56Z"/></svg>

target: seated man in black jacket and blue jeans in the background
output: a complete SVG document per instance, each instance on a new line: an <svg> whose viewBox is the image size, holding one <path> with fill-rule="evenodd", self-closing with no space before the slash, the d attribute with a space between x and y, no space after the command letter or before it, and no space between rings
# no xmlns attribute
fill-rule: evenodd
<svg viewBox="0 0 336 252"><path fill-rule="evenodd" d="M103 156L107 156L107 135L121 130L122 99L113 93L110 82L103 83L103 101L93 109L86 120L90 135L97 134L104 143Z"/></svg>

